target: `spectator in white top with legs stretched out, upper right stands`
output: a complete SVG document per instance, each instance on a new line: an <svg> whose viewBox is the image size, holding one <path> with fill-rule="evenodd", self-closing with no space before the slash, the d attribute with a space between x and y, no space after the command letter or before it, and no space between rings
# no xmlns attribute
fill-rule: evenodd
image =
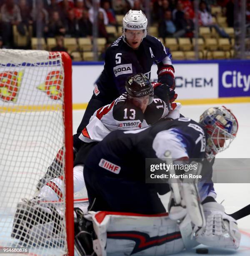
<svg viewBox="0 0 250 256"><path fill-rule="evenodd" d="M208 12L207 5L204 1L200 2L199 22L201 26L215 28L215 30L221 37L229 38L228 34L223 30L223 28L220 28L217 24L213 23L212 15Z"/></svg>

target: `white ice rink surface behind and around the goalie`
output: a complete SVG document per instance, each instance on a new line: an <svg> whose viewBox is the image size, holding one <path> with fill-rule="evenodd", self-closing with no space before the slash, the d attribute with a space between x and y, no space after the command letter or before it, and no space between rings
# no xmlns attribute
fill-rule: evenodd
<svg viewBox="0 0 250 256"><path fill-rule="evenodd" d="M185 117L192 118L196 121L199 120L200 114L203 113L204 110L211 106L219 106L218 104L213 105L184 105L182 107L181 113ZM224 152L218 154L219 158L250 158L250 103L242 103L242 104L225 104L226 107L230 108L232 112L235 114L239 123L239 130L237 138L233 141L230 147ZM82 120L82 116L84 114L84 110L74 110L73 111L73 133L76 132L80 121ZM52 156L53 158L53 156ZM51 159L52 160L52 159ZM250 175L250 174L249 174ZM37 179L34 178L34 179ZM11 184L11 183L10 183ZM250 204L250 184L215 184L215 190L217 192L217 201L223 202L223 206L225 207L225 211L227 213L233 213L242 207ZM11 195L15 191L15 187L9 188L8 193ZM15 194L13 194L15 195ZM1 195L4 197L4 195ZM10 197L12 198L12 197ZM161 197L164 205L168 203L168 196ZM19 199L16 199L19 200ZM12 204L15 200L12 200ZM0 199L1 202L1 199ZM7 222L6 218L10 219L10 216L6 216L2 218L0 213L0 226L4 226L4 223ZM9 220L8 220L9 221ZM238 251L231 250L218 250L209 248L209 255L250 255L250 216L245 217L241 220L238 220L238 225L242 233L241 245ZM10 232L5 230L7 233ZM0 241L1 246L1 241ZM205 247L205 246L202 246ZM57 253L55 253L56 255ZM179 255L196 255L195 249L188 252L180 253Z"/></svg>

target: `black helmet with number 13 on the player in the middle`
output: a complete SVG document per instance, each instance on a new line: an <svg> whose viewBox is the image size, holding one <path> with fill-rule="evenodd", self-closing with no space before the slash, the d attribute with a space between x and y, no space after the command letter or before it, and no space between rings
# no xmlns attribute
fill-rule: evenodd
<svg viewBox="0 0 250 256"><path fill-rule="evenodd" d="M129 98L142 98L149 96L148 105L153 102L154 88L148 77L144 74L135 74L127 78L125 89Z"/></svg>

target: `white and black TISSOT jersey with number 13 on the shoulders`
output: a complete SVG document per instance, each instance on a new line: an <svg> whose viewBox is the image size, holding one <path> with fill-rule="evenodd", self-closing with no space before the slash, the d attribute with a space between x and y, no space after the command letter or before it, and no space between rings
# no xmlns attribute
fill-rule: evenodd
<svg viewBox="0 0 250 256"><path fill-rule="evenodd" d="M154 98L143 113L128 100L127 93L124 93L109 105L96 110L79 138L84 142L102 141L111 131L145 128L161 118L176 119L180 117L180 107L180 103L172 103L169 113L165 102Z"/></svg>

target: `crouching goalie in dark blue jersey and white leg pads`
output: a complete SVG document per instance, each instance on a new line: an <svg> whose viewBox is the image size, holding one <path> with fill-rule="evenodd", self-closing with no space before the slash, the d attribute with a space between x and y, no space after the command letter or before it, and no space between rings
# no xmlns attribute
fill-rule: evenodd
<svg viewBox="0 0 250 256"><path fill-rule="evenodd" d="M123 243L123 240L120 239L134 240L131 238L133 235L128 235L127 230L128 225L131 225L133 221L127 218L128 223L126 225L124 212L133 212L134 218L136 218L135 216L145 216L145 214L151 216L153 214L153 216L158 216L159 219L163 216L161 214L165 212L165 207L159 199L158 193L163 195L169 192L169 184L145 183L146 158L163 159L166 157L166 152L170 152L173 159L185 159L186 161L193 158L200 159L203 168L206 167L206 172L208 170L212 172L211 162L215 155L230 145L237 131L238 123L235 116L223 106L206 110L201 115L199 123L189 118L179 118L178 120L158 122L143 130L113 131L102 142L93 147L85 161L84 168L90 208L96 212L104 211L105 214L102 213L102 215L116 215L115 224L112 224L112 222L107 221L102 223L104 218L100 220L98 213L93 214L95 233L98 234L98 239L103 239L102 230L104 230L105 225L107 226L105 230L110 230L111 226L111 230L115 228L117 231L119 218L124 230L118 232L119 236L116 233L117 237L111 239L112 248L107 246L109 244L107 242L100 246L101 250L105 252L106 250L107 252L117 250L118 253L121 252L119 246ZM210 177L206 177L205 184L201 182L201 185L198 186L202 202L200 212L196 211L197 207L194 206L193 202L188 202L190 199L183 197L185 186L182 183L179 186L180 195L182 195L179 204L175 201L175 191L171 192L168 217L171 220L179 221L180 229L178 231L182 234L182 238L176 232L175 236L171 233L173 239L164 240L164 243L171 242L169 246L166 245L168 250L165 251L165 254L177 253L184 248L194 246L190 240L191 233L194 238L193 241L208 246L235 249L239 247L240 232L236 220L225 214L224 207L215 201L216 193L210 180L211 175L212 173L210 173ZM208 182L210 184L207 184ZM194 191L191 191L190 197L193 194ZM190 203L193 205L191 208L188 207ZM180 215L181 209L185 213L184 215ZM189 221L187 221L187 218L189 218ZM200 225L196 224L198 223L196 219L199 218L203 221ZM141 221L143 222L143 220ZM145 221L143 223L147 226ZM216 223L216 225L213 223ZM170 228L173 227L172 224L168 223L169 229L166 229L166 232L167 230L177 231ZM140 224L140 218L138 217L138 226L134 222L133 230L145 230L141 225L142 223ZM135 228L136 226L137 228ZM100 229L98 230L98 228ZM98 233L99 231L100 233ZM170 235L170 231L168 232ZM123 236L121 236L121 233ZM134 236L135 233L133 233ZM108 232L106 236L109 238ZM113 242L113 239L117 239L117 244ZM149 238L145 239L148 240ZM175 243L173 243L173 240L175 240ZM158 243L153 245L156 250L154 255L163 255L164 253L161 254L157 251L156 247L159 246L160 248L160 245L162 245L159 241ZM145 255L152 253L152 251L147 251L149 247L151 246L145 247ZM134 251L135 248L133 249L128 245L122 247L122 253L130 254L132 250Z"/></svg>

